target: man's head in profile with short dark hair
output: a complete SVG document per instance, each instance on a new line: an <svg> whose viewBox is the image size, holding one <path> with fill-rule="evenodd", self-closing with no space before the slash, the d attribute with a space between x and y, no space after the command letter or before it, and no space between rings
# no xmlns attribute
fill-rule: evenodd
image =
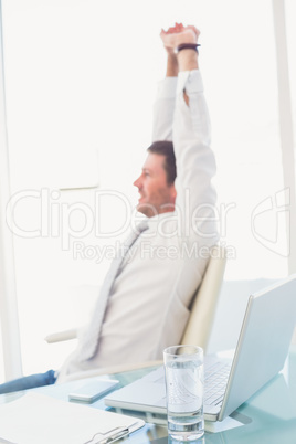
<svg viewBox="0 0 296 444"><path fill-rule="evenodd" d="M175 209L176 159L171 141L156 141L147 151L141 175L134 184L140 193L137 210L151 218Z"/></svg>

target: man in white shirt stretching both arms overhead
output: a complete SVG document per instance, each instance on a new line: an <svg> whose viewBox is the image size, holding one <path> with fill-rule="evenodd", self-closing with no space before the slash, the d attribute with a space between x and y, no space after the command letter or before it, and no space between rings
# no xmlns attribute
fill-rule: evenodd
<svg viewBox="0 0 296 444"><path fill-rule="evenodd" d="M198 64L199 31L176 23L160 36L167 75L158 87L154 144L134 182L144 226L134 228L126 254L112 265L77 349L59 372L22 378L22 389L94 368L160 359L181 339L218 239L211 186L215 161ZM0 392L19 388L9 384Z"/></svg>

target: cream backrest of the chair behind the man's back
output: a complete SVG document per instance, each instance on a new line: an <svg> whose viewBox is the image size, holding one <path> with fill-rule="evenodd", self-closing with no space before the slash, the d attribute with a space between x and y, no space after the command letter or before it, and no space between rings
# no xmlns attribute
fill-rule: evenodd
<svg viewBox="0 0 296 444"><path fill-rule="evenodd" d="M221 245L213 246L202 282L191 303L191 313L181 343L200 346L207 351L225 265L225 249Z"/></svg>

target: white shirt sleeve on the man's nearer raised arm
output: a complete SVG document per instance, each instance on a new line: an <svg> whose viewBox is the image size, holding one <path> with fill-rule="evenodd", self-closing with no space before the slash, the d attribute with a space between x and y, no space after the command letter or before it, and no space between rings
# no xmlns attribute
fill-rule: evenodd
<svg viewBox="0 0 296 444"><path fill-rule="evenodd" d="M183 97L186 91L189 105ZM216 242L216 193L212 186L215 158L199 70L178 76L172 141L177 163L176 211L183 218L182 235L199 245Z"/></svg>

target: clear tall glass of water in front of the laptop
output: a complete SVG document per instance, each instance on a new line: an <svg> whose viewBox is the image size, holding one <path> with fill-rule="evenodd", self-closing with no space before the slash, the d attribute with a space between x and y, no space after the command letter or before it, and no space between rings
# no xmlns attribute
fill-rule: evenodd
<svg viewBox="0 0 296 444"><path fill-rule="evenodd" d="M198 440L204 434L203 350L197 346L173 346L163 350L168 432L178 441Z"/></svg>

